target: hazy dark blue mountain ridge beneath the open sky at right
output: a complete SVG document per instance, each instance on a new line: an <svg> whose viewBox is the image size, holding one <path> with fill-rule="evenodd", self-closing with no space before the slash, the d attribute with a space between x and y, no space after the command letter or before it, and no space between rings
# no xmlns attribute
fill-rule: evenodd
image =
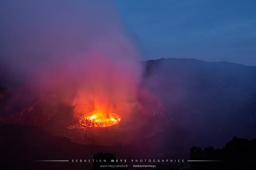
<svg viewBox="0 0 256 170"><path fill-rule="evenodd" d="M220 147L233 136L256 137L256 67L177 58L144 64L141 86L162 101L170 124L191 143Z"/></svg>

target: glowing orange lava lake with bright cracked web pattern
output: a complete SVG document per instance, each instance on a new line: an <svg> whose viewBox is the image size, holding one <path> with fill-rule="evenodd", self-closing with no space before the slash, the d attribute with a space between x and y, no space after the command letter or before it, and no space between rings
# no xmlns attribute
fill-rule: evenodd
<svg viewBox="0 0 256 170"><path fill-rule="evenodd" d="M105 127L118 124L121 119L115 113L110 113L109 119L105 118L102 114L97 113L96 111L86 113L82 115L79 119L79 125L68 126L68 129L88 129L88 127Z"/></svg>

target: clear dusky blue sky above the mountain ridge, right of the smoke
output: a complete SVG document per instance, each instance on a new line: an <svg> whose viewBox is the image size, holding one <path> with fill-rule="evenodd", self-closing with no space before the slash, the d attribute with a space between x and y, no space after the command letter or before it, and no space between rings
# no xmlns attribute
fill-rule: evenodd
<svg viewBox="0 0 256 170"><path fill-rule="evenodd" d="M256 0L115 0L142 59L256 66Z"/></svg>

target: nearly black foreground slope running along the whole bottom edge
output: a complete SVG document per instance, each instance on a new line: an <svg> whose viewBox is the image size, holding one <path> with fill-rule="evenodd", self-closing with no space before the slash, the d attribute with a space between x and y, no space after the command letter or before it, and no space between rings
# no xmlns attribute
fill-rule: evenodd
<svg viewBox="0 0 256 170"><path fill-rule="evenodd" d="M27 125L0 126L0 169L3 170L101 170L100 165L126 165L133 170L133 164L120 163L121 153L128 153L131 148L124 150L124 146L95 146L78 145L66 138L54 137L39 127ZM172 144L168 144L172 145ZM150 149L150 148L148 148ZM145 149L146 151L146 149ZM101 153L104 152L104 153ZM114 153L114 155L113 155ZM117 155L119 155L117 157ZM134 155L136 159L139 156ZM155 157L156 158L156 157ZM167 157L170 158L170 157ZM178 157L172 157L173 159ZM182 157L181 157L182 158ZM72 159L82 159L82 163L73 163ZM87 160L87 163L84 162ZM88 163L88 159L106 159L107 163ZM109 159L119 159L118 163L111 163ZM142 158L144 159L144 158ZM256 164L256 139L238 139L234 137L222 149L207 147L192 147L190 160L221 160L221 162L191 162L184 163L148 163L156 165L156 170L243 170L254 169ZM35 160L69 160L69 162L36 162ZM130 166L131 165L131 166ZM106 170L112 167L104 168ZM137 169L137 168L136 168ZM145 168L147 170L147 168Z"/></svg>

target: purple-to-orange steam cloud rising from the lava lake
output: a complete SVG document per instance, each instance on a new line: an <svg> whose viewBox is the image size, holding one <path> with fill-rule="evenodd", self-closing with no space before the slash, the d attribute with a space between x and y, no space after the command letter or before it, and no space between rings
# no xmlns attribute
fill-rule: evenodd
<svg viewBox="0 0 256 170"><path fill-rule="evenodd" d="M93 110L123 117L136 105L139 52L111 1L4 0L0 25L9 77L56 94L74 117Z"/></svg>

